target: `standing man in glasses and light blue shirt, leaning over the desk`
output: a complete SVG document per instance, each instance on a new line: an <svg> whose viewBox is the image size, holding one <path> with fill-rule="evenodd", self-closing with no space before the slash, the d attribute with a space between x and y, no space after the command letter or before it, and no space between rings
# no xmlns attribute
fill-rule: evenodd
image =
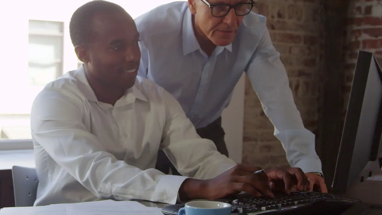
<svg viewBox="0 0 382 215"><path fill-rule="evenodd" d="M170 92L197 133L228 156L221 114L246 72L290 165L303 169L311 189L314 184L327 192L314 134L305 129L293 101L266 18L251 12L253 7L252 0L188 0L136 18L142 53L138 75ZM156 168L166 173L170 166L161 151Z"/></svg>

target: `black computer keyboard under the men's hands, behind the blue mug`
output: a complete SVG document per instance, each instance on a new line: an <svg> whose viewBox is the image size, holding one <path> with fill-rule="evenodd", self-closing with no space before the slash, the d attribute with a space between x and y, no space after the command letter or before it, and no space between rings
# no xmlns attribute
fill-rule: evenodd
<svg viewBox="0 0 382 215"><path fill-rule="evenodd" d="M232 205L232 214L332 214L345 211L359 200L320 192L292 192L290 195L278 194L275 198L254 197L240 194L235 199L219 199ZM184 204L168 205L162 208L165 215L178 215ZM328 213L329 212L329 213ZM334 214L334 213L333 213Z"/></svg>

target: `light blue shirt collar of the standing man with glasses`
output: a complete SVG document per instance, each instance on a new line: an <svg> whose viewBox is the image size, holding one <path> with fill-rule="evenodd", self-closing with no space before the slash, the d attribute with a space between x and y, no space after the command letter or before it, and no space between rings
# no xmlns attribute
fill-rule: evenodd
<svg viewBox="0 0 382 215"><path fill-rule="evenodd" d="M189 8L186 9L185 15L183 16L182 21L182 39L183 39L183 55L187 55L191 52L194 52L198 49L201 50L199 42L195 37L194 28L192 25L192 14ZM224 49L232 51L232 44L227 46L218 46L216 54L221 53Z"/></svg>

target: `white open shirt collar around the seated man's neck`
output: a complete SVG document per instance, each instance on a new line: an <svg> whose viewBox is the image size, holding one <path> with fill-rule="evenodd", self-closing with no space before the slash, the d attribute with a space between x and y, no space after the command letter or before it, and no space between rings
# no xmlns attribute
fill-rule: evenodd
<svg viewBox="0 0 382 215"><path fill-rule="evenodd" d="M86 74L85 74L85 68L84 65L81 65L78 70L76 70L76 73L74 75L74 78L80 81L78 83L78 88L81 91L81 93L84 94L87 100L89 101L95 101L98 102L97 96L95 96L93 89L91 88L89 81L87 81ZM135 83L137 80L135 80ZM129 94L132 94L133 96L129 96ZM125 95L121 98L123 100L128 100L128 103L134 102L131 99L131 97L137 98L142 101L149 101L144 94L136 87L136 84L133 85L130 89L128 89L125 93Z"/></svg>

